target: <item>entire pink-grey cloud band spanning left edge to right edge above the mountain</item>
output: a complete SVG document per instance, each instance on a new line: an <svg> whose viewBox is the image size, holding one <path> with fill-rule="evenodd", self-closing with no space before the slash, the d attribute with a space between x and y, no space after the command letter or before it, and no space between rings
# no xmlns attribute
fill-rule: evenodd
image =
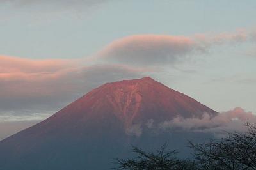
<svg viewBox="0 0 256 170"><path fill-rule="evenodd" d="M113 41L91 59L0 56L0 114L55 111L104 82L164 72L159 68L166 65L176 69L214 45L254 40L255 31L244 29L217 35L134 35Z"/></svg>

